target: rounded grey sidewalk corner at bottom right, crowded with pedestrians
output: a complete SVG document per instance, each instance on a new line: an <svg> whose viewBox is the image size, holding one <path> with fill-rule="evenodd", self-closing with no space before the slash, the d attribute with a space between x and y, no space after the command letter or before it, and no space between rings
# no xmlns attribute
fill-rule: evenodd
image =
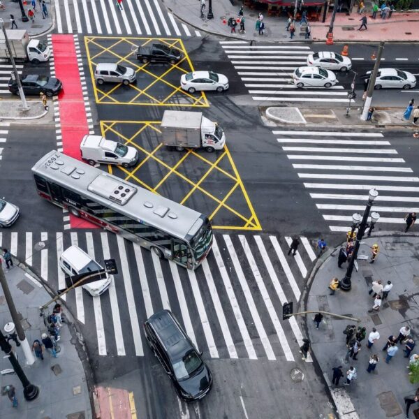
<svg viewBox="0 0 419 419"><path fill-rule="evenodd" d="M346 325L355 322L325 316L320 328L316 329L314 322L311 321L314 315L309 314L308 335L314 358L320 365L325 381L337 402L341 418L402 419L405 417L404 397L414 393L419 385L409 382L406 369L409 360L404 358L402 351L404 346L398 345L399 351L388 365L384 362L385 353L381 349L388 336L398 335L403 325L410 326L413 339L418 342L419 237L404 235L401 232L392 236L367 238L362 242L365 244L361 244L359 255L369 256L369 247L374 243L378 244L381 251L376 262L370 264L368 260L358 260L359 272L353 271L351 291L338 290L335 295L329 295L328 285L332 277L342 279L346 272L345 269L337 267L339 248L336 249L331 256L326 256L326 260L314 275L306 307L307 310L329 311L361 319L360 325L367 328L367 337L362 341L358 360L350 359L348 364L344 363L346 336L342 332ZM381 279L383 284L390 280L394 286L388 300L383 302L381 310L374 314L368 313L374 302L368 291L372 281L378 279ZM309 288L309 284L307 286ZM381 337L371 349L368 349L367 339L373 327L378 330ZM374 353L378 354L380 361L375 372L368 374L366 369L369 356ZM413 353L418 353L418 348L414 349ZM335 385L330 384L332 367L339 365L343 365L345 376L348 367L353 365L357 369L358 379L351 385L344 386L344 378L341 378L340 387L335 389ZM347 395L351 401L348 401ZM412 406L411 418L415 417L413 411L417 408L417 405Z"/></svg>

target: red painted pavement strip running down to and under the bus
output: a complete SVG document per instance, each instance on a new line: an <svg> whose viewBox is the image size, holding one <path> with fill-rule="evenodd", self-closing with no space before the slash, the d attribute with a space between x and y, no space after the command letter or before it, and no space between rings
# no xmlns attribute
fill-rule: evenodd
<svg viewBox="0 0 419 419"><path fill-rule="evenodd" d="M58 96L63 152L81 160L80 141L89 133L73 35L52 35L55 76L63 83ZM72 228L97 228L70 215Z"/></svg>

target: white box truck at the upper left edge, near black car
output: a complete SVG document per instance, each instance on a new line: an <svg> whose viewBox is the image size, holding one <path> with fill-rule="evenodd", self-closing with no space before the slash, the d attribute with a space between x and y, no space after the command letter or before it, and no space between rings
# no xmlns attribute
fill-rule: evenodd
<svg viewBox="0 0 419 419"><path fill-rule="evenodd" d="M31 39L27 31L20 29L6 30L6 35L15 60L31 61L39 64L48 61L51 56L50 48L45 41ZM0 58L9 58L4 34L0 31Z"/></svg>

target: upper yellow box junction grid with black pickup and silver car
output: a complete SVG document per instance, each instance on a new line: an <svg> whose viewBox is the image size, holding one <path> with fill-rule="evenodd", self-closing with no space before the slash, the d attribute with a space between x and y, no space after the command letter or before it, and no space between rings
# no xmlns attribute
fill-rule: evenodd
<svg viewBox="0 0 419 419"><path fill-rule="evenodd" d="M183 58L175 65L142 64L135 57L136 47L151 45L152 43L161 43L170 48L175 48L182 52ZM108 105L209 106L203 91L190 94L180 87L180 76L194 71L191 59L189 59L181 39L85 36L84 45L96 103L106 103ZM128 86L122 83L96 84L94 71L96 65L100 62L113 62L132 67L137 73L137 82L128 84ZM175 81L173 78L175 78ZM159 84L164 84L164 91L169 92L164 97L156 97L156 93L152 91L152 88Z"/></svg>

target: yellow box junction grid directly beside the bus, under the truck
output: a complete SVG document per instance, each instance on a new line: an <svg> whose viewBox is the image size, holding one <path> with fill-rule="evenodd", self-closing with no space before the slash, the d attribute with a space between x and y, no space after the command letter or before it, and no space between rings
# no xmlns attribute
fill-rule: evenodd
<svg viewBox="0 0 419 419"><path fill-rule="evenodd" d="M189 188L189 191L184 193L184 196L179 199L179 203L188 205L188 201L192 197L195 198L196 194L199 193L200 196L205 197L205 203L208 206L213 206L213 210L209 214L212 228L261 230L258 217L253 210L253 205L251 205L228 147L226 146L222 151L212 154L206 152L201 154L200 151L194 149L186 149L182 153L166 152L165 147L162 147L159 141L161 136L160 124L161 122L156 121L101 121L101 133L105 138L118 140L125 145L131 145L138 149L139 154L138 163L133 168L126 169L119 166L112 168L112 166L108 165L109 172L120 170L124 179L135 182L143 188L158 194L161 194L161 187L166 182L175 179L184 183L183 189ZM147 141L143 140L143 138L146 138ZM166 161L164 159L165 152L170 154L169 158L166 156ZM191 179L184 172L191 170L191 166L187 163L195 159L200 161L200 168L203 168L203 174L198 179ZM172 165L168 163L169 160L173 161ZM152 174L152 181L145 179L140 174L140 170L146 169L147 165L157 168ZM191 171L193 172L193 170ZM156 172L158 175L156 175ZM221 182L218 182L217 179L217 182L213 181L212 184L216 183L220 187L228 186L228 190L221 191L216 186L217 189L215 191L209 191L208 187L205 186L205 180L212 175L221 176ZM159 178L156 179L156 177ZM229 203L229 200L232 203ZM194 209L203 212L199 208L195 207ZM228 212L228 216L233 216L233 220L236 221L228 226L217 223L217 214L220 214L221 211L224 213Z"/></svg>

